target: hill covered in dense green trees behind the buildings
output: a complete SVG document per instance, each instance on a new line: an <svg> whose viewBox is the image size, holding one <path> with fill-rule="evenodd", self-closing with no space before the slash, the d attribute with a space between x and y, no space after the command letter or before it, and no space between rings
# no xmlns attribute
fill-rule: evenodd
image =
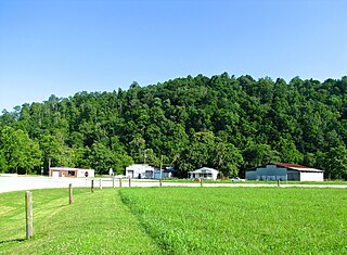
<svg viewBox="0 0 347 255"><path fill-rule="evenodd" d="M131 163L201 166L224 176L268 162L347 173L347 77L303 80L177 78L114 92L51 95L0 117L0 169L108 168Z"/></svg>

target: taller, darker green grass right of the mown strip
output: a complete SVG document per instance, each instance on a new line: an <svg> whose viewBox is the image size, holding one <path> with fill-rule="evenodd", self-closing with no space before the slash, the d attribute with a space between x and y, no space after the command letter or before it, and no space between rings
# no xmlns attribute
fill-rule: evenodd
<svg viewBox="0 0 347 255"><path fill-rule="evenodd" d="M303 188L124 189L172 254L347 254L347 192Z"/></svg>

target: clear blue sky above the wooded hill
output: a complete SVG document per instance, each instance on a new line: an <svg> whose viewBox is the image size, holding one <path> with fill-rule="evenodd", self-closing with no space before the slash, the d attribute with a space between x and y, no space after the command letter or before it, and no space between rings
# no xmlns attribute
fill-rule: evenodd
<svg viewBox="0 0 347 255"><path fill-rule="evenodd" d="M345 0L0 0L0 113L177 77L347 75Z"/></svg>

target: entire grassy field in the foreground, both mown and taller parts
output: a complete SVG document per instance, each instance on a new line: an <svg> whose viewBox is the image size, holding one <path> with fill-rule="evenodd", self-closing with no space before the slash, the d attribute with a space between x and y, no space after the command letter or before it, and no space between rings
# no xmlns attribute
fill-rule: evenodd
<svg viewBox="0 0 347 255"><path fill-rule="evenodd" d="M347 254L347 191L316 188L38 190L0 194L0 254Z"/></svg>

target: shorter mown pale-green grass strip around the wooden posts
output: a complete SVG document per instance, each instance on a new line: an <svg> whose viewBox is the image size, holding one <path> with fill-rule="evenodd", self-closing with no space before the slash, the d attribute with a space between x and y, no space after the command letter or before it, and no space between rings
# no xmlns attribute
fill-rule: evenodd
<svg viewBox="0 0 347 255"><path fill-rule="evenodd" d="M0 254L158 254L117 190L35 190L34 239L25 239L25 192L0 194Z"/></svg>

